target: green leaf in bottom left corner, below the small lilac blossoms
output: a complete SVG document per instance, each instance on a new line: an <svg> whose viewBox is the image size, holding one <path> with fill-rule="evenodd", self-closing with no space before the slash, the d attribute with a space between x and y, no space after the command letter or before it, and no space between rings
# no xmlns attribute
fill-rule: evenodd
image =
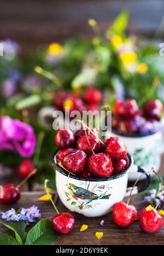
<svg viewBox="0 0 164 256"><path fill-rule="evenodd" d="M17 222L9 222L9 223L3 223L4 226L8 227L8 229L11 229L15 233L16 241L22 245L22 241L25 240L26 237L26 223L25 221L17 221Z"/></svg>

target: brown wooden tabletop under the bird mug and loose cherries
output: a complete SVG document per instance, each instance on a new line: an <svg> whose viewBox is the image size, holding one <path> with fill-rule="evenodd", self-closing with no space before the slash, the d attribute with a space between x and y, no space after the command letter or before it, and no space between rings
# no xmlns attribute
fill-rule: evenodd
<svg viewBox="0 0 164 256"><path fill-rule="evenodd" d="M164 166L164 155L162 156L162 164L160 173L162 173L162 166ZM58 200L56 192L54 193L55 201L60 212L68 212L65 206ZM42 192L22 192L22 197L17 202L14 207L19 209L19 207L32 206L35 204L39 207L42 213L42 218L52 218L55 214L54 209L50 202L36 202L36 198L43 195ZM137 207L138 212L142 209L145 203L140 199L140 195L132 196L131 203ZM1 206L1 210L7 211L9 206ZM145 234L140 231L138 226L138 221L136 220L131 226L126 228L121 228L115 225L112 214L107 214L104 217L99 218L86 218L83 215L73 213L76 226L74 231L67 236L59 236L56 245L110 245L110 244L164 244L164 225L160 231L155 234ZM100 226L100 221L104 220L104 226ZM0 221L1 222L1 221ZM79 232L82 224L87 224L88 229L84 232ZM8 229L0 225L0 232L8 232ZM101 240L97 240L95 233L103 232L104 236Z"/></svg>

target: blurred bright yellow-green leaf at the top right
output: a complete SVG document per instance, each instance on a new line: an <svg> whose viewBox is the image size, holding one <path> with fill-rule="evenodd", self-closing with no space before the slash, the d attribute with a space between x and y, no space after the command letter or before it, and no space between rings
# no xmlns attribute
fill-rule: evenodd
<svg viewBox="0 0 164 256"><path fill-rule="evenodd" d="M111 32L114 32L116 34L122 34L126 29L127 23L128 23L128 11L122 10L122 12L114 20L112 26L110 26L107 29L106 35L110 36Z"/></svg>

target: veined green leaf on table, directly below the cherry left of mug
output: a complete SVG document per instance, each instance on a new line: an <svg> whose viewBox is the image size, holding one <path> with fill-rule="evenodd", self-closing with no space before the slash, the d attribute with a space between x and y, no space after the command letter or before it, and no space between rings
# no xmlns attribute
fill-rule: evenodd
<svg viewBox="0 0 164 256"><path fill-rule="evenodd" d="M26 245L51 245L57 239L50 220L40 220L27 234Z"/></svg>

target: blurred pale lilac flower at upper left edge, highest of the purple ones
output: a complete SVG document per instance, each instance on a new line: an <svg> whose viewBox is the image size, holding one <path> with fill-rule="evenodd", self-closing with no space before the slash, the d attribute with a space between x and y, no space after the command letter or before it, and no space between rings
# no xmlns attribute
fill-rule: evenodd
<svg viewBox="0 0 164 256"><path fill-rule="evenodd" d="M3 56L8 61L13 60L16 54L20 51L19 44L10 39L6 39L0 43L3 44Z"/></svg>

